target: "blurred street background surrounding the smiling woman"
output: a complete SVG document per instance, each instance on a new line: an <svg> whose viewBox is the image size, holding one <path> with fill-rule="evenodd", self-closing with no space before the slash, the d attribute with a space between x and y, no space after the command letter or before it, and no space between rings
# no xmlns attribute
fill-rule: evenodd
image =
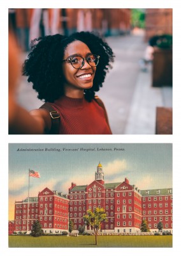
<svg viewBox="0 0 181 256"><path fill-rule="evenodd" d="M115 53L98 92L113 134L172 134L172 9L9 9L9 29L27 58L38 36L96 31ZM32 84L20 77L17 102L39 108Z"/></svg>

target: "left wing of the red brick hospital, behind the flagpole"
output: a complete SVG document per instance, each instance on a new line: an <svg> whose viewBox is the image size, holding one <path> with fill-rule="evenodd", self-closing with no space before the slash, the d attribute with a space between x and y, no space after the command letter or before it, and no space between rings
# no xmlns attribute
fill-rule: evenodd
<svg viewBox="0 0 181 256"><path fill-rule="evenodd" d="M69 200L66 195L43 189L38 197L15 202L15 232L30 232L35 220L39 220L45 233L68 231ZM28 227L27 227L28 212Z"/></svg>

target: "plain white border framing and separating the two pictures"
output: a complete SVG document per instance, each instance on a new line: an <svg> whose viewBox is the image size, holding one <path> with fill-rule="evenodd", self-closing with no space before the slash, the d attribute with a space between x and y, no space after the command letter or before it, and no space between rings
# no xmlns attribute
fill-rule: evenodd
<svg viewBox="0 0 181 256"><path fill-rule="evenodd" d="M0 3L0 92L1 92L1 180L0 254L9 255L178 255L180 250L180 1L178 0L1 0ZM179 5L178 5L179 4ZM8 135L8 8L173 8L173 136L43 136ZM173 248L8 248L8 143L173 143Z"/></svg>

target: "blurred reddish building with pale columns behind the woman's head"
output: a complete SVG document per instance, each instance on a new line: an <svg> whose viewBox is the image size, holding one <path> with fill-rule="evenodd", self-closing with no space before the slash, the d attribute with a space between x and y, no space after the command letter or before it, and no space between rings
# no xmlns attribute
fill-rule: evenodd
<svg viewBox="0 0 181 256"><path fill-rule="evenodd" d="M76 31L98 31L103 36L122 35L131 30L131 9L9 9L9 24L23 51L39 36Z"/></svg>

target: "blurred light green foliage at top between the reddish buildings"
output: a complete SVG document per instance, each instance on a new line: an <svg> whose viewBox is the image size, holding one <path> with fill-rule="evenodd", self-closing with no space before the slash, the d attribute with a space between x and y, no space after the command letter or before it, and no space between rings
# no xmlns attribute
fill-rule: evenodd
<svg viewBox="0 0 181 256"><path fill-rule="evenodd" d="M145 12L141 9L131 9L131 24L133 28L145 28Z"/></svg>

